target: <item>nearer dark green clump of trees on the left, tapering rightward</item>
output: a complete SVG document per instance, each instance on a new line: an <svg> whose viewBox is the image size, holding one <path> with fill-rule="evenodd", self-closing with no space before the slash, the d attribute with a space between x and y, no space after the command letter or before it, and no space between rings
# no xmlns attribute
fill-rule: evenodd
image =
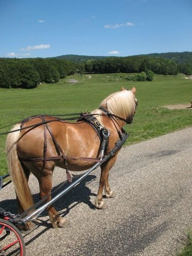
<svg viewBox="0 0 192 256"><path fill-rule="evenodd" d="M31 89L40 82L58 82L80 69L81 65L64 59L0 58L0 87Z"/></svg>

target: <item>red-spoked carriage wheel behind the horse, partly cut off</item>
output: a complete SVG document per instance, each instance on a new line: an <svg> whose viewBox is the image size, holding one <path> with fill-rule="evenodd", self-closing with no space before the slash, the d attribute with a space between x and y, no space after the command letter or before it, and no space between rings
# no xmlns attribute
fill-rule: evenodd
<svg viewBox="0 0 192 256"><path fill-rule="evenodd" d="M25 241L22 233L9 221L0 219L0 256L18 253L25 256Z"/></svg>

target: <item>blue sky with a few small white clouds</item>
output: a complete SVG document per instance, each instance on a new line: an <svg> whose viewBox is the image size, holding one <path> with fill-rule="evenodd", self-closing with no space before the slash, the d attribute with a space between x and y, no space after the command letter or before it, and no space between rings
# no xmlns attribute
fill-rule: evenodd
<svg viewBox="0 0 192 256"><path fill-rule="evenodd" d="M0 57L192 51L192 0L0 0Z"/></svg>

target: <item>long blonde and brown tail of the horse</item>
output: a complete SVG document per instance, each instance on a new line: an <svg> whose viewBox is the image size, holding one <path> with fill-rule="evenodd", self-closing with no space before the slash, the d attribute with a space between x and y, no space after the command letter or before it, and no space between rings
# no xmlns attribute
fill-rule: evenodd
<svg viewBox="0 0 192 256"><path fill-rule="evenodd" d="M20 124L16 124L11 131L20 128ZM17 155L17 141L20 131L9 133L6 140L6 154L9 174L11 176L17 199L24 210L33 205L33 198L26 179L24 169Z"/></svg>

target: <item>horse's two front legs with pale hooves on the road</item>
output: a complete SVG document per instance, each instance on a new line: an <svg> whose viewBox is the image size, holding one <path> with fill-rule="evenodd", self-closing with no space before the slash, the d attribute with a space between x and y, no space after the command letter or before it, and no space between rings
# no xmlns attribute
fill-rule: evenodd
<svg viewBox="0 0 192 256"><path fill-rule="evenodd" d="M106 197L108 198L115 197L115 192L110 188L110 185L109 185L109 171L113 167L116 159L117 159L117 155L101 165L101 177L99 182L99 189L98 189L97 197L95 200L95 206L98 209L106 209L106 207L108 207L108 205L103 201L103 198L102 198L103 188L104 188Z"/></svg>

